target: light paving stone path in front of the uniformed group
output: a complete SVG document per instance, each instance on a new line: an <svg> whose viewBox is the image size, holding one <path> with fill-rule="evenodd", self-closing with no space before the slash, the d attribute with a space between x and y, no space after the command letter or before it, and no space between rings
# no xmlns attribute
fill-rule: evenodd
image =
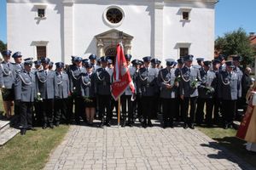
<svg viewBox="0 0 256 170"><path fill-rule="evenodd" d="M51 169L256 169L198 130L71 126Z"/></svg>

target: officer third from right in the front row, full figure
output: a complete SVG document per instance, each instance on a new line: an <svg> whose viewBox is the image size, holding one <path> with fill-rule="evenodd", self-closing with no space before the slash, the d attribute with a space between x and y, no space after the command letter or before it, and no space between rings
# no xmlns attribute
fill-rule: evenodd
<svg viewBox="0 0 256 170"><path fill-rule="evenodd" d="M184 128L194 129L195 109L198 97L198 86L201 82L200 71L192 66L193 55L184 57L185 65L181 70L180 97L183 99ZM190 103L190 111L189 111Z"/></svg>

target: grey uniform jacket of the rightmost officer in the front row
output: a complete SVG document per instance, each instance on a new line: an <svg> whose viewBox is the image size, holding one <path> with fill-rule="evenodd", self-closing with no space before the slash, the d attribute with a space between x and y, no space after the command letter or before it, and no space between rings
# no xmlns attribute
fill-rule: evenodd
<svg viewBox="0 0 256 170"><path fill-rule="evenodd" d="M236 72L222 71L218 76L218 97L224 100L236 100L240 96L241 82Z"/></svg>

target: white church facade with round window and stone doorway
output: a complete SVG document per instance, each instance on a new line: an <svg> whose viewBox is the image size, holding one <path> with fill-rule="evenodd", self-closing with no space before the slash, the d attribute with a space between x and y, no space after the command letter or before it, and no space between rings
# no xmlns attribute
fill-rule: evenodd
<svg viewBox="0 0 256 170"><path fill-rule="evenodd" d="M23 56L212 59L217 0L7 0L7 42Z"/></svg>

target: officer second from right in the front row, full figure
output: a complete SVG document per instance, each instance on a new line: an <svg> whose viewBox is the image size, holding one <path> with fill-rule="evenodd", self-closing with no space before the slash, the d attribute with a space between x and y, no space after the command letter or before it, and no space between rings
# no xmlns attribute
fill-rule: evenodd
<svg viewBox="0 0 256 170"><path fill-rule="evenodd" d="M217 77L214 71L210 69L212 61L206 60L203 62L203 68L200 71L201 85L198 87L200 102L197 102L196 109L196 124L201 125L204 120L204 106L207 106L206 123L208 127L212 126L212 110L213 97L217 88Z"/></svg>

